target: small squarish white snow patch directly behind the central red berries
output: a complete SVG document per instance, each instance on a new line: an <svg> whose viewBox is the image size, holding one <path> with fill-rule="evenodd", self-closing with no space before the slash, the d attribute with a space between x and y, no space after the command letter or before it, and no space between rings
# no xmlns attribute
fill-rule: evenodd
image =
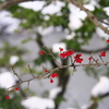
<svg viewBox="0 0 109 109"><path fill-rule="evenodd" d="M59 52L59 48L63 48L63 50L66 50L66 45L64 43L53 44L52 45L52 51Z"/></svg>

